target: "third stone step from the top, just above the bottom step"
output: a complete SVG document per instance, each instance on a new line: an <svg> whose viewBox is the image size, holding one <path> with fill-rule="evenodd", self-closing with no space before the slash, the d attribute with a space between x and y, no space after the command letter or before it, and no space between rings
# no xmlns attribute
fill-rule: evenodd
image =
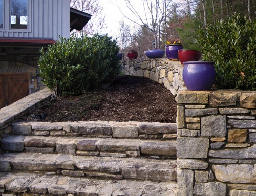
<svg viewBox="0 0 256 196"><path fill-rule="evenodd" d="M84 157L63 154L6 153L0 157L2 172L40 172L70 177L96 176L153 181L176 180L176 160Z"/></svg>

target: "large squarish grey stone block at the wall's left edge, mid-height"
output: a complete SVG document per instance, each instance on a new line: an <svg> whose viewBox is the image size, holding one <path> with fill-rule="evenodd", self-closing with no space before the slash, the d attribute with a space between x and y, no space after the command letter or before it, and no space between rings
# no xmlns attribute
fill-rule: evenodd
<svg viewBox="0 0 256 196"><path fill-rule="evenodd" d="M207 138L177 138L178 158L207 158L208 148Z"/></svg>

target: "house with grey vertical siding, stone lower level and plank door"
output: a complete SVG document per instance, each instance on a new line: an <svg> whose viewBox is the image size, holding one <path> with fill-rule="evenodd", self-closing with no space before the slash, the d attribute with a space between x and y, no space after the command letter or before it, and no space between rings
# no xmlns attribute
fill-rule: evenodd
<svg viewBox="0 0 256 196"><path fill-rule="evenodd" d="M0 0L0 108L44 88L39 50L90 18L69 0Z"/></svg>

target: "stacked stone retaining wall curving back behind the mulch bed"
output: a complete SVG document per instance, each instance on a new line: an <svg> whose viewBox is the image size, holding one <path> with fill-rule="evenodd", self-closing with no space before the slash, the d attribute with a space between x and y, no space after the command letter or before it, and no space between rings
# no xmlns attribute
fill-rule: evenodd
<svg viewBox="0 0 256 196"><path fill-rule="evenodd" d="M176 95L178 195L256 195L256 91L186 91L182 71L167 59L122 66Z"/></svg>

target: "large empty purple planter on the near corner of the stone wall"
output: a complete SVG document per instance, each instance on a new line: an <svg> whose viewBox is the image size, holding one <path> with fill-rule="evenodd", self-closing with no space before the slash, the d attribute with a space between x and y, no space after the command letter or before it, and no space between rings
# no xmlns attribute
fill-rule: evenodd
<svg viewBox="0 0 256 196"><path fill-rule="evenodd" d="M215 67L212 61L184 62L183 80L188 90L211 90L215 80Z"/></svg>

